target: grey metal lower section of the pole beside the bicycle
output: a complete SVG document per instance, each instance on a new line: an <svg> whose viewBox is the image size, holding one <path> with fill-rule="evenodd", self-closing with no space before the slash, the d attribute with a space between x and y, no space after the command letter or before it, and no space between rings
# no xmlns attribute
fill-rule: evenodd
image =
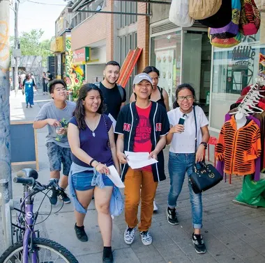
<svg viewBox="0 0 265 263"><path fill-rule="evenodd" d="M1 5L0 5L1 6ZM3 223L3 239L6 248L13 245L12 218L10 210L10 198L8 191L8 180L0 180L0 197L1 197L1 215Z"/></svg>

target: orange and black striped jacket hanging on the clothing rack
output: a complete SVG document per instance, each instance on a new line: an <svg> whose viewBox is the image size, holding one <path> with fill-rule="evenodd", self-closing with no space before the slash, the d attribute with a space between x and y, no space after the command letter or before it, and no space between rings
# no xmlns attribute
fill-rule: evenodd
<svg viewBox="0 0 265 263"><path fill-rule="evenodd" d="M255 173L255 159L262 150L259 126L248 120L244 127L236 129L236 120L225 122L220 131L215 156L225 162L224 172L232 175Z"/></svg>

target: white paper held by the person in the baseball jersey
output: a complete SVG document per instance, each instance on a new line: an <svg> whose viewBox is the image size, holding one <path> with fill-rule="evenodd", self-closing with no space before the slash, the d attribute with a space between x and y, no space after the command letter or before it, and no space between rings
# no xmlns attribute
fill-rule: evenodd
<svg viewBox="0 0 265 263"><path fill-rule="evenodd" d="M149 152L124 152L128 159L128 165L132 169L142 168L144 166L149 166L151 164L156 164L158 161L156 159L148 159Z"/></svg>

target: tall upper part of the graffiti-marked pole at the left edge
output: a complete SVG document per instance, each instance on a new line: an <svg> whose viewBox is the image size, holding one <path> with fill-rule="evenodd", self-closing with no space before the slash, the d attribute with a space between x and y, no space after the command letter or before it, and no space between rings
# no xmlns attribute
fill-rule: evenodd
<svg viewBox="0 0 265 263"><path fill-rule="evenodd" d="M0 179L9 183L12 199L11 148L10 148L10 46L9 46L9 1L0 1Z"/></svg>

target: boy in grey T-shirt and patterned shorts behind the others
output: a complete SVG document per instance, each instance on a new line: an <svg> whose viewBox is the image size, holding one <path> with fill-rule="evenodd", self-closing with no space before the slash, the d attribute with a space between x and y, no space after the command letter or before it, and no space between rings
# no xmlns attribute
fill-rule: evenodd
<svg viewBox="0 0 265 263"><path fill-rule="evenodd" d="M66 100L66 83L61 79L54 79L50 82L49 92L53 100L44 104L40 109L34 120L33 128L42 129L47 125L46 147L50 161L50 177L61 179L60 186L62 189L66 189L72 164L67 129L68 120L72 118L75 111L75 102ZM63 165L62 176L60 176L61 165ZM49 192L52 205L56 205L57 197L65 203L70 202L65 191Z"/></svg>

